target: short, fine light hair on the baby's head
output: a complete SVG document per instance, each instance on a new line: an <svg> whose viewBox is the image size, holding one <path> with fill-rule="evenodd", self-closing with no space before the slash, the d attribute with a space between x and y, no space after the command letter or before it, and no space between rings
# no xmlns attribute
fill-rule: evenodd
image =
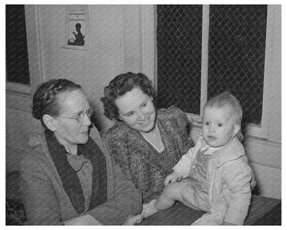
<svg viewBox="0 0 287 230"><path fill-rule="evenodd" d="M204 108L226 108L230 113L232 113L232 117L235 118L236 124L239 124L240 129L237 133L237 138L240 142L243 141L243 135L241 133L241 120L242 120L242 108L238 99L229 92L221 93L206 102Z"/></svg>

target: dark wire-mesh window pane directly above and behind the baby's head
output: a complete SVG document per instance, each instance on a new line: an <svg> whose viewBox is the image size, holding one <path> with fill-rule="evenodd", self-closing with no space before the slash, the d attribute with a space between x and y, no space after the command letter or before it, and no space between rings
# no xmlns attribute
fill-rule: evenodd
<svg viewBox="0 0 287 230"><path fill-rule="evenodd" d="M260 124L267 6L210 6L208 99L224 90L241 103L243 122Z"/></svg>

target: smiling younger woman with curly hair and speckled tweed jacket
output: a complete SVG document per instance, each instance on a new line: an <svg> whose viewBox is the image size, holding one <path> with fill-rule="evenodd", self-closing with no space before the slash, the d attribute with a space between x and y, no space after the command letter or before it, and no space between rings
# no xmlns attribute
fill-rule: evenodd
<svg viewBox="0 0 287 230"><path fill-rule="evenodd" d="M159 197L164 178L193 146L187 116L175 106L156 111L154 90L142 73L118 75L104 95L104 115L117 120L106 133L112 156L135 182L146 204Z"/></svg>

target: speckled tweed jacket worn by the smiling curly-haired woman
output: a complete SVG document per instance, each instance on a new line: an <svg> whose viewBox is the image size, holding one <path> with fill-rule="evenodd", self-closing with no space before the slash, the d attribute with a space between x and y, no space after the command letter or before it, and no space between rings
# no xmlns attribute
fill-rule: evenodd
<svg viewBox="0 0 287 230"><path fill-rule="evenodd" d="M188 119L184 112L170 106L157 111L156 122L170 157L168 170L171 171L181 156L194 145L188 137ZM166 169L159 164L143 136L123 122L116 122L106 133L106 139L117 164L141 191L143 203L158 198L164 189Z"/></svg>

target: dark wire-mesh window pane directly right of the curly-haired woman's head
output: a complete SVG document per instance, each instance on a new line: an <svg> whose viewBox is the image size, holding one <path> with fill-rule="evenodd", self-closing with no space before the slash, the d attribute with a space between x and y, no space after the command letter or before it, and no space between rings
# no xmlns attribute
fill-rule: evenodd
<svg viewBox="0 0 287 230"><path fill-rule="evenodd" d="M157 6L158 106L200 111L202 6Z"/></svg>

